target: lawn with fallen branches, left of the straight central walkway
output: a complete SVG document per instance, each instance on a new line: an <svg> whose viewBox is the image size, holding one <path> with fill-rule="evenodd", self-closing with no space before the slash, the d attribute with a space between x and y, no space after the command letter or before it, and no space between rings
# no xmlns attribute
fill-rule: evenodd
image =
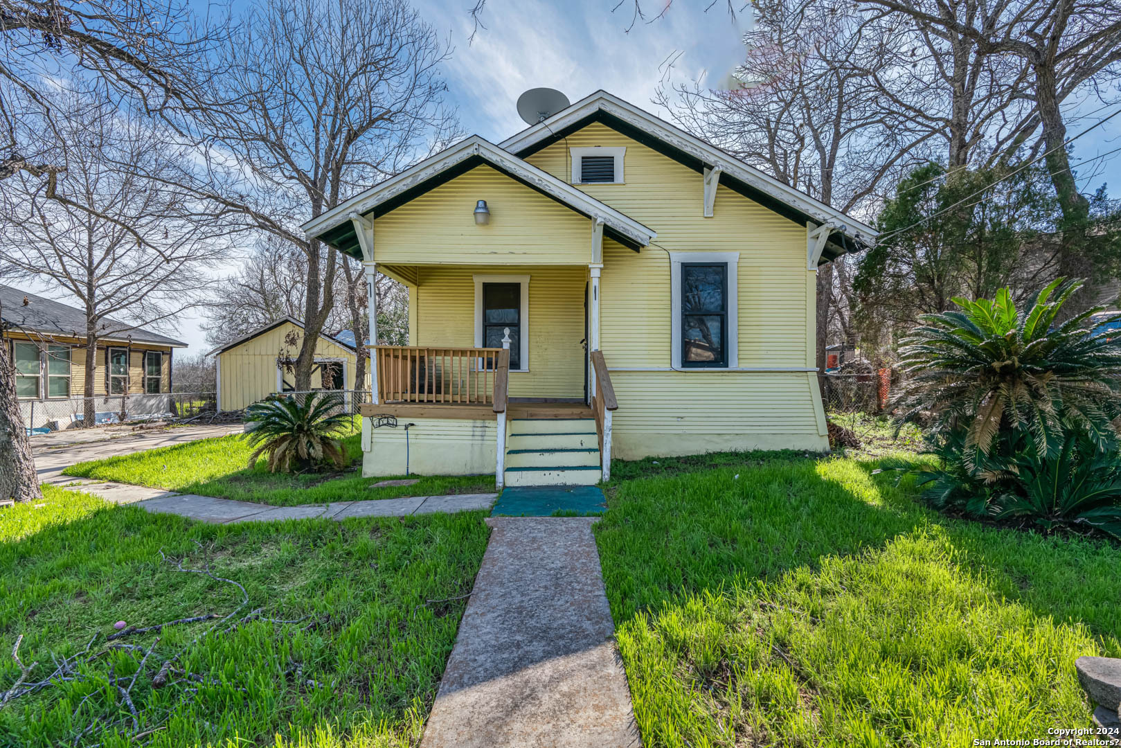
<svg viewBox="0 0 1121 748"><path fill-rule="evenodd" d="M419 740L487 544L480 512L343 523L213 526L112 507L44 487L36 505L0 509L0 691L19 669L7 653L54 671L98 634L83 681L61 682L0 709L0 745L123 748L135 732L110 685L131 678L139 652L109 650L112 624L149 626L251 610L263 618L184 624L158 636L131 699L149 746L413 746ZM249 601L203 569L242 584ZM204 636L204 632L212 630ZM156 634L121 641L148 648ZM175 654L202 677L156 690L156 663ZM308 683L314 681L315 683ZM196 687L188 693L186 687ZM109 727L105 727L109 726Z"/></svg>

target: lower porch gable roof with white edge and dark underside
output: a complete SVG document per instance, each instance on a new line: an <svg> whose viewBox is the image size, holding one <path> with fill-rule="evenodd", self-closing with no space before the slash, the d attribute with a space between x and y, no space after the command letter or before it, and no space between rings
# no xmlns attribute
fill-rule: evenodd
<svg viewBox="0 0 1121 748"><path fill-rule="evenodd" d="M344 201L331 211L303 225L308 239L321 239L341 251L362 258L351 213L377 218L464 174L476 166L489 165L547 197L590 219L603 221L604 233L620 243L637 249L657 237L652 229L624 215L567 182L503 150L494 144L471 136L435 156L401 172L385 182Z"/></svg>

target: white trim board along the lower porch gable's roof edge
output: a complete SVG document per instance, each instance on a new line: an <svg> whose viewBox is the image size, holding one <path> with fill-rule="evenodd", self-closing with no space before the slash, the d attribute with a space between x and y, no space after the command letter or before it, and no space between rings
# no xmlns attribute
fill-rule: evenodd
<svg viewBox="0 0 1121 748"><path fill-rule="evenodd" d="M532 164L518 158L513 154L499 148L476 135L461 140L451 148L446 148L435 156L430 156L419 164L405 169L397 176L354 195L339 206L304 223L300 228L308 239L319 237L331 229L350 221L349 216L351 213L359 215L369 213L387 200L396 197L437 174L452 168L456 164L476 156L503 172L516 174L535 188L555 197L584 215L590 215L593 219L603 219L603 222L614 231L642 247L648 246L658 236L654 229L639 223L606 203L581 192L567 182L558 179L548 172L537 168Z"/></svg>

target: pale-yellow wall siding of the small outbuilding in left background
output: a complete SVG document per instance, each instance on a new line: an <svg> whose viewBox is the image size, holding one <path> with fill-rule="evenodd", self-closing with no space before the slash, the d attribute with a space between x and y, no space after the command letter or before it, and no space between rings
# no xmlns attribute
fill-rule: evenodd
<svg viewBox="0 0 1121 748"><path fill-rule="evenodd" d="M223 410L240 410L277 391L277 357L295 359L299 354L298 342L294 347L285 345L289 332L296 332L300 341L304 338L303 330L285 323L219 354L219 396ZM365 382L354 387L358 358L349 348L321 338L315 355L346 362L346 389L369 389L369 368ZM293 381L293 377L285 375L288 381ZM318 371L313 372L312 388L317 389L321 385Z"/></svg>

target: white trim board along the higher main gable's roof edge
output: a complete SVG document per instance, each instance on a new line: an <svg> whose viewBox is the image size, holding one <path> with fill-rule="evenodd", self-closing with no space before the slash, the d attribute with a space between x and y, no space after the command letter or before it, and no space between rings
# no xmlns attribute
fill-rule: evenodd
<svg viewBox="0 0 1121 748"><path fill-rule="evenodd" d="M581 99L567 109L560 110L543 122L538 122L537 124L526 128L513 137L507 138L499 144L499 147L504 148L512 154L520 153L526 148L537 145L541 140L553 137L552 133L558 132L571 124L575 124L576 122L586 119L599 110L613 114L628 124L637 127L643 132L648 132L652 137L663 140L678 150L689 154L704 164L720 164L723 167L724 175L773 195L777 200L780 200L790 207L805 213L817 221L836 221L837 223L846 224L852 230L851 233L847 234L850 238L865 239L871 242L876 240L877 236L879 236L879 232L867 223L845 215L844 213L830 207L825 203L814 200L806 193L782 184L775 177L760 172L753 166L749 166L715 146L712 146L704 140L674 127L669 122L666 122L665 120L661 120L654 114L639 109L634 104L608 93L606 91L596 91L595 93Z"/></svg>

